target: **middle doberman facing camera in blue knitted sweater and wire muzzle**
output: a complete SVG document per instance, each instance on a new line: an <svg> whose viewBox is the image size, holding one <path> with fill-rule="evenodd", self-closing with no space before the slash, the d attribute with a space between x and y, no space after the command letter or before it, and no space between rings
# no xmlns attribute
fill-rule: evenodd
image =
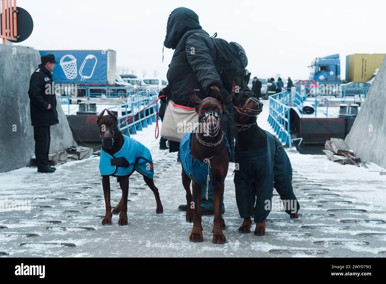
<svg viewBox="0 0 386 284"><path fill-rule="evenodd" d="M212 242L225 243L226 238L222 232L222 229L225 229L225 221L221 216L221 206L230 154L226 146L226 137L220 124L222 113L225 110L224 99L217 87L212 87L212 89L218 92L216 98L208 97L200 100L195 95L195 91L198 90L191 91L190 93L190 98L195 105L195 111L198 114L200 123L193 133L186 134L183 140L181 140L182 183L186 191L186 201L188 202L186 221L191 222L193 220L193 229L189 239L191 242L202 242L201 190L207 189L207 183L209 182L207 174L209 174L208 170L210 168L212 173L210 182L213 185L213 207L215 212ZM190 144L184 144L183 141ZM190 145L190 152L187 150L186 154L183 154L181 150L184 147L183 145ZM203 172L201 173L201 177L204 177L203 181L199 181L199 178L195 175L196 172L185 172L184 166L189 167L189 164L191 165L192 163L198 163L200 166L203 166ZM193 196L190 192L191 181Z"/></svg>

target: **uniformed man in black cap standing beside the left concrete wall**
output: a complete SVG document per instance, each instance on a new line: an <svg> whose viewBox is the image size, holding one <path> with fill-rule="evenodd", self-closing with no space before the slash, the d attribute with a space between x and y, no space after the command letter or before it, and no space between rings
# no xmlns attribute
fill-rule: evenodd
<svg viewBox="0 0 386 284"><path fill-rule="evenodd" d="M30 99L31 124L34 127L35 156L38 172L54 172L48 165L50 126L59 123L56 111L56 95L52 81L54 54L41 56L41 64L31 75L28 96Z"/></svg>

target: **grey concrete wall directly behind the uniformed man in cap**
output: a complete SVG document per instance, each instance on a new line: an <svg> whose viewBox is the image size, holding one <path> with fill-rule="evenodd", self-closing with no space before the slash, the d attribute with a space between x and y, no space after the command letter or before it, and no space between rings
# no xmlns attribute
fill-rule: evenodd
<svg viewBox="0 0 386 284"><path fill-rule="evenodd" d="M39 51L33 48L0 44L0 172L29 166L34 156L28 89L39 63ZM60 104L57 110L59 124L51 127L50 150L76 145Z"/></svg>

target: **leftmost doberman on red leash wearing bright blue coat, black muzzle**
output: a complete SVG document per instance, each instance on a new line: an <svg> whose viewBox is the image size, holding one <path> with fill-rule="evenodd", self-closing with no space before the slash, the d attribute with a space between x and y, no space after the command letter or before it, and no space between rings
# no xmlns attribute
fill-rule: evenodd
<svg viewBox="0 0 386 284"><path fill-rule="evenodd" d="M145 183L156 197L156 213L163 213L163 206L159 198L158 188L153 180L153 162L149 149L136 140L123 135L118 129L118 118L110 110L103 116L103 110L97 118L97 125L102 140L102 150L99 169L102 176L103 194L105 195L106 215L103 225L110 225L112 214L119 215L119 225L127 225L127 196L129 194L129 177L137 171L142 174ZM111 211L110 204L110 176L117 177L122 198Z"/></svg>

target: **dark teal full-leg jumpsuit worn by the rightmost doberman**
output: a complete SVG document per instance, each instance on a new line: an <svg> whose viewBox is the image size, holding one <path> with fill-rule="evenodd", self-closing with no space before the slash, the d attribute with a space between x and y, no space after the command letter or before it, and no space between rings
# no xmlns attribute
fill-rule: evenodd
<svg viewBox="0 0 386 284"><path fill-rule="evenodd" d="M248 218L255 211L255 223L266 220L271 212L272 204L267 208L267 202L272 201L273 188L281 200L296 207L293 211L288 207L286 213L296 213L300 208L292 188L291 162L276 136L267 131L266 134L266 147L235 153L235 162L239 166L234 176L237 207L241 218ZM257 192L253 182L257 183Z"/></svg>

